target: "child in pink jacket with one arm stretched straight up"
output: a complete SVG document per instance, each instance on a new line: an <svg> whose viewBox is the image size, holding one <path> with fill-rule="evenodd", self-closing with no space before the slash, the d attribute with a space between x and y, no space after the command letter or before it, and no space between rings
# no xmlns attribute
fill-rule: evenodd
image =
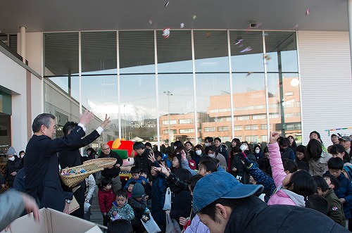
<svg viewBox="0 0 352 233"><path fill-rule="evenodd" d="M304 170L287 174L284 172L282 158L279 152L277 138L279 132L270 133L269 159L272 169L272 178L275 182L277 190L272 194L268 201L268 205L290 205L305 207L305 198L315 194L317 184L310 174Z"/></svg>

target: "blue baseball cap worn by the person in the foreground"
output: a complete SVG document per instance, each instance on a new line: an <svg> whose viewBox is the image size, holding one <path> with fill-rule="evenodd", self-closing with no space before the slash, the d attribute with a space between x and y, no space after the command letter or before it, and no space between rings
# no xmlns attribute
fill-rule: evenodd
<svg viewBox="0 0 352 233"><path fill-rule="evenodd" d="M193 210L198 213L218 199L241 199L263 189L261 184L242 184L228 172L212 172L196 183L193 190Z"/></svg>

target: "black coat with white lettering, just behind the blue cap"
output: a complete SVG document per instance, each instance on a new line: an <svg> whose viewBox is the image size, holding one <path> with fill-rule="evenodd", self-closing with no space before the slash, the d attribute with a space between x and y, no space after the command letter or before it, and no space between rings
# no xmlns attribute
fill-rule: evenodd
<svg viewBox="0 0 352 233"><path fill-rule="evenodd" d="M246 165L241 162L241 157L239 156L240 153L237 153L237 155L233 157L230 173L242 184L249 184L249 170ZM256 157L253 156L253 154L247 152L246 156L251 163L258 165L256 162ZM237 171L233 172L233 168L237 168Z"/></svg>

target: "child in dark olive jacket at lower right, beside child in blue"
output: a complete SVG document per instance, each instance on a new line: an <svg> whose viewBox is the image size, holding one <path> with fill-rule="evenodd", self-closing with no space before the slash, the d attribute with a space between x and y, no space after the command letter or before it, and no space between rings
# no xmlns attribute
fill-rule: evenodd
<svg viewBox="0 0 352 233"><path fill-rule="evenodd" d="M342 227L346 226L346 220L344 215L344 209L342 208L341 201L337 198L334 193L334 189L330 188L323 177L319 175L313 176L315 183L318 187L318 194L324 196L327 199L327 216L339 223Z"/></svg>

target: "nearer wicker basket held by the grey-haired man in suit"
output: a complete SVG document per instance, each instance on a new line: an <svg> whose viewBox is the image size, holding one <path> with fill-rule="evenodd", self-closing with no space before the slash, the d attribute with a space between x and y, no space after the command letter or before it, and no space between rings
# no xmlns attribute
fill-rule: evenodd
<svg viewBox="0 0 352 233"><path fill-rule="evenodd" d="M103 168L100 168L95 163L83 164L83 165L73 167L73 169L75 169L75 168L83 168L84 170L86 170L86 171L89 170L89 171L84 172L84 173L80 173L80 174L76 174L76 175L61 175L60 174L61 180L68 187L75 187L77 184L80 184L80 182L82 182L85 178L89 177L89 175L103 170ZM69 168L69 169L72 169L72 168Z"/></svg>

